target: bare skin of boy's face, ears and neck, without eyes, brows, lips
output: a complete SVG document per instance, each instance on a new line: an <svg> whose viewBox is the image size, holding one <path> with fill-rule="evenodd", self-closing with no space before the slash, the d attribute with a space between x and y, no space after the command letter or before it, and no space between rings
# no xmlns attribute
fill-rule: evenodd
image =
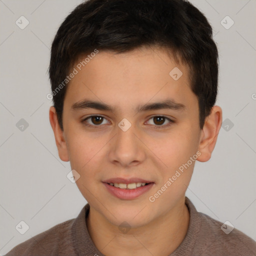
<svg viewBox="0 0 256 256"><path fill-rule="evenodd" d="M176 81L169 75L174 67L183 73ZM114 110L71 108L85 98ZM167 98L185 108L135 110L137 105ZM82 121L93 114L105 118L101 124L87 119L98 125L95 128ZM168 119L154 121L152 117L159 115L174 122L166 126ZM221 108L213 106L200 129L198 101L189 86L187 67L164 49L141 47L121 54L99 51L68 84L62 117L63 130L50 107L59 157L70 161L80 174L76 184L90 205L86 223L95 246L108 256L172 253L187 232L189 212L184 199L195 161L154 202L148 198L196 151L198 161L209 160L221 126ZM127 131L118 127L123 118L131 123ZM154 184L139 197L125 200L111 195L103 185L102 180L112 177L139 177ZM123 221L130 226L127 232L118 228Z"/></svg>

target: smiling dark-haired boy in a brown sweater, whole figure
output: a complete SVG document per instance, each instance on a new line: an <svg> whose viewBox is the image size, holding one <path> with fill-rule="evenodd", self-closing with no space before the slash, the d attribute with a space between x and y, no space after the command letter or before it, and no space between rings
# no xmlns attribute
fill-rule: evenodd
<svg viewBox="0 0 256 256"><path fill-rule="evenodd" d="M78 5L52 43L49 119L88 204L7 255L256 255L185 197L221 126L217 57L187 1Z"/></svg>

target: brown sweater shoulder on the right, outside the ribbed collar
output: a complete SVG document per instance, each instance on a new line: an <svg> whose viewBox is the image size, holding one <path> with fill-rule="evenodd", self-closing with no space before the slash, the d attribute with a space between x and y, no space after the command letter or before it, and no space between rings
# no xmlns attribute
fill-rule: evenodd
<svg viewBox="0 0 256 256"><path fill-rule="evenodd" d="M211 237L207 249L202 255L256 255L256 242L234 228L230 223L222 223L210 216L198 212L201 219L200 237ZM213 254L215 253L215 254Z"/></svg>

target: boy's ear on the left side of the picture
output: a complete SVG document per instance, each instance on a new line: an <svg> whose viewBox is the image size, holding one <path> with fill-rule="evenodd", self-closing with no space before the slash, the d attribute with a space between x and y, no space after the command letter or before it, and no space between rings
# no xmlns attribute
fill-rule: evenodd
<svg viewBox="0 0 256 256"><path fill-rule="evenodd" d="M54 106L51 106L49 109L49 120L51 128L54 132L55 142L58 149L58 156L62 161L69 161L66 141L64 138L64 131L59 126L56 109Z"/></svg>

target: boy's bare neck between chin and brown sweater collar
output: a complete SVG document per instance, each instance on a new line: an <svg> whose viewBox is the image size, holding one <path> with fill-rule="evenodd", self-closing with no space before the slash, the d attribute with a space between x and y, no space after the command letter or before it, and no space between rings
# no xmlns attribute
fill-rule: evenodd
<svg viewBox="0 0 256 256"><path fill-rule="evenodd" d="M122 233L118 226L90 208L86 224L93 243L104 255L167 256L179 246L186 235L189 211L183 199L175 208L150 223Z"/></svg>

